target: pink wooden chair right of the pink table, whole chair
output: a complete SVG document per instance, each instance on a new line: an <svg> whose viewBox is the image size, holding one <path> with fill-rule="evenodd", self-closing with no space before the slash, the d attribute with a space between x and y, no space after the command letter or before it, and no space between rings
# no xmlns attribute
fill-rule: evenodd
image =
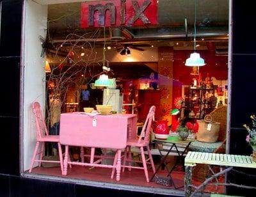
<svg viewBox="0 0 256 197"><path fill-rule="evenodd" d="M122 167L123 167L122 171L123 172L124 172L125 168L129 168L129 170L131 170L131 168L144 169L145 177L146 177L147 182L149 182L147 164L151 164L153 172L154 173L156 172L156 168L154 166L154 161L152 159L152 155L151 155L151 152L150 152L150 149L149 149L149 146L148 146L149 141L150 141L151 124L152 124L152 120L154 120L155 111L156 111L156 106L150 107L148 115L147 115L147 119L146 119L146 121L143 125L142 130L141 130L140 137L138 139L127 139L127 146L125 148L125 153L124 153L124 164L122 165ZM145 136L145 137L143 138L143 136ZM143 167L131 166L131 162L141 162L141 161L132 161L131 146L136 146L136 147L140 148L140 154L141 154ZM148 152L148 159L147 160L145 158L144 148L146 148L147 152ZM127 154L129 155L129 159L127 159ZM126 166L127 161L129 162L128 166ZM150 161L150 162L148 162L148 161ZM114 162L116 162L116 161L114 161Z"/></svg>

